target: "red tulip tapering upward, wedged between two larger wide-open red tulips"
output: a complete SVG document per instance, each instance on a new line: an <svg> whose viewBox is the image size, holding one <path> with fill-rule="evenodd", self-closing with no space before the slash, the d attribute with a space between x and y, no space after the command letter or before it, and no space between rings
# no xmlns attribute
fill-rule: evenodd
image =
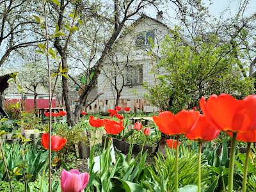
<svg viewBox="0 0 256 192"><path fill-rule="evenodd" d="M220 130L212 127L205 116L200 114L195 127L193 127L185 136L189 140L204 142L216 139L219 134Z"/></svg>

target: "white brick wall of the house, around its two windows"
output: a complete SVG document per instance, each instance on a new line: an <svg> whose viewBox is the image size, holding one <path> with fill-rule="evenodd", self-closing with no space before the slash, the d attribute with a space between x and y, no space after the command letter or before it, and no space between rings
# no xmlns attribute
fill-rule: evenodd
<svg viewBox="0 0 256 192"><path fill-rule="evenodd" d="M141 19L136 26L132 26L132 28L128 30L127 35L118 39L117 46L114 49L116 50L115 54L118 57L118 63L120 63L118 65L122 65L122 63L124 65L124 63L127 62L128 56L128 65L143 65L143 82L153 85L155 84L154 74L150 73L150 70L152 69L152 61L150 56L147 55L147 51L150 47L138 48L136 45L136 37L141 32L154 30L155 47L153 52L161 57L161 43L163 42L164 37L168 35L168 28L155 20L145 18ZM154 65L156 63L157 62L155 62ZM107 57L103 68L108 69L110 66L111 61ZM120 77L118 80L120 82L122 81ZM111 86L111 83L104 72L101 72L98 77L97 91L98 93L104 92L103 95L100 95L100 100L115 100L116 98L115 89ZM143 99L145 93L147 93L147 90L145 90L142 85L132 85L132 87L125 85L120 99Z"/></svg>

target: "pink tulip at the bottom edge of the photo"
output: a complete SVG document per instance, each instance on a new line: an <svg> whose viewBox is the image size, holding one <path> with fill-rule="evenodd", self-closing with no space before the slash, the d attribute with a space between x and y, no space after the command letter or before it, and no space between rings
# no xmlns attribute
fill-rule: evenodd
<svg viewBox="0 0 256 192"><path fill-rule="evenodd" d="M86 188L89 182L89 174L80 174L78 170L70 170L67 172L63 169L61 171L60 180L62 192L81 192Z"/></svg>

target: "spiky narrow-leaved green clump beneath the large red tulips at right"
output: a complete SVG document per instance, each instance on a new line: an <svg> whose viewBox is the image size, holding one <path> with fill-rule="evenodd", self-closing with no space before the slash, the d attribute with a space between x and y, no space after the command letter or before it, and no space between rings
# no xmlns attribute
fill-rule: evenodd
<svg viewBox="0 0 256 192"><path fill-rule="evenodd" d="M164 181L164 189L167 191L174 191L175 153L168 148L166 148L166 152L166 158L163 154L157 154L155 157L156 164L148 168L150 175L152 175L150 182L156 182L154 188L158 188L156 190L151 187L150 190L160 191L161 184ZM189 184L197 184L197 161L198 155L195 152L189 151L188 148L183 148L183 150L180 151L179 186L181 188L188 186ZM215 179L214 172L207 168L206 162L207 161L203 156L201 167L202 190L207 189Z"/></svg>

